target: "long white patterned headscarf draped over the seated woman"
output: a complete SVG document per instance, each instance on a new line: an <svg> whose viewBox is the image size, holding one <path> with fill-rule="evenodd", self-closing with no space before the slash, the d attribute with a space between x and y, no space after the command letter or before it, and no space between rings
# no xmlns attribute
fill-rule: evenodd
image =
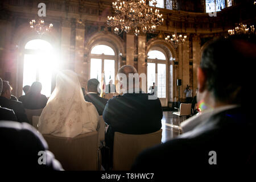
<svg viewBox="0 0 256 182"><path fill-rule="evenodd" d="M84 100L77 74L70 70L60 72L39 118L40 133L73 138L96 131L98 120L95 106Z"/></svg>

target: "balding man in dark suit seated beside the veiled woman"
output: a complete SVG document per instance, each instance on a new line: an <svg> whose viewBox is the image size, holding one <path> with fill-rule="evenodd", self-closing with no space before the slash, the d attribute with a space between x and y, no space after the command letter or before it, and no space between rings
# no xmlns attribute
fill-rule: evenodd
<svg viewBox="0 0 256 182"><path fill-rule="evenodd" d="M151 95L140 90L138 79L131 78L133 84L129 85L129 73L135 75L137 70L131 65L119 69L118 77L124 94L111 98L103 113L104 121L109 124L105 141L110 148L110 157L116 131L125 134L148 134L162 127L163 111L159 98L148 99Z"/></svg>

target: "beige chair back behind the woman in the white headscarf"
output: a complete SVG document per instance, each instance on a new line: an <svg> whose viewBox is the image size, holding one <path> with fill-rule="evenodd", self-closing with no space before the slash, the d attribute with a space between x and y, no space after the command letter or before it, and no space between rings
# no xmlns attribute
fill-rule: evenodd
<svg viewBox="0 0 256 182"><path fill-rule="evenodd" d="M96 171L98 167L98 132L74 138L44 134L44 139L65 170Z"/></svg>

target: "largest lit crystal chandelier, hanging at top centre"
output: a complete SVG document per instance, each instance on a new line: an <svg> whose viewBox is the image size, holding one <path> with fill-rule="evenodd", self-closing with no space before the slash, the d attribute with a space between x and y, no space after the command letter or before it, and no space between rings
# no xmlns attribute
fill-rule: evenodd
<svg viewBox="0 0 256 182"><path fill-rule="evenodd" d="M108 16L107 23L110 27L115 27L115 34L121 34L123 30L129 32L132 29L136 36L140 32L154 32L156 27L163 24L164 19L155 7L155 0L152 1L152 4L154 7L147 5L144 0L117 0L112 3L115 16Z"/></svg>

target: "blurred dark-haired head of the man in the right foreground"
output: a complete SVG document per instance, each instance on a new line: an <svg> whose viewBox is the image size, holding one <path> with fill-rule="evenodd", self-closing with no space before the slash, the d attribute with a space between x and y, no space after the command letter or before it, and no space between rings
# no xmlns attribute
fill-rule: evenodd
<svg viewBox="0 0 256 182"><path fill-rule="evenodd" d="M247 78L245 63L255 60L254 36L232 36L214 40L203 50L197 72L198 97L208 107L242 104L242 82Z"/></svg>

